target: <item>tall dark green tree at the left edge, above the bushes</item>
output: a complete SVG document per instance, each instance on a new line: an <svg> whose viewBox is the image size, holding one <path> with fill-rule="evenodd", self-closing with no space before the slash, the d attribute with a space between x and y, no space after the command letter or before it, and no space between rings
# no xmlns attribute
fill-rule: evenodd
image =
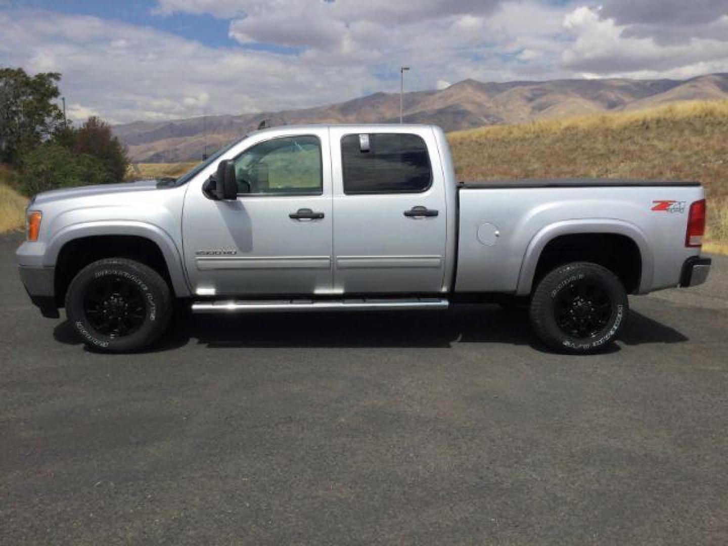
<svg viewBox="0 0 728 546"><path fill-rule="evenodd" d="M55 72L29 76L23 68L0 68L0 162L18 165L25 152L63 125L53 102L59 80Z"/></svg>

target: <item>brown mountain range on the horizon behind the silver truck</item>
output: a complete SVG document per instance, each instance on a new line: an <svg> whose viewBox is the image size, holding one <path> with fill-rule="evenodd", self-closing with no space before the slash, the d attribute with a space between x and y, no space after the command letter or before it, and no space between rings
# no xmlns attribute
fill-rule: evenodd
<svg viewBox="0 0 728 546"><path fill-rule="evenodd" d="M404 95L404 120L446 131L534 119L651 108L682 100L728 98L728 74L674 79L561 79L486 83L466 79L443 90ZM256 114L201 116L113 127L134 162L197 160L202 154L270 125L398 122L400 95L377 92L344 103Z"/></svg>

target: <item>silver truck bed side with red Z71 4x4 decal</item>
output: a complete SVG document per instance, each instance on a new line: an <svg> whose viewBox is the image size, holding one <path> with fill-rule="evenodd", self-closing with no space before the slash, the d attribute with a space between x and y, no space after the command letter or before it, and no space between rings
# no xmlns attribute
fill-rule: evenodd
<svg viewBox="0 0 728 546"><path fill-rule="evenodd" d="M465 183L459 190L455 289L525 296L547 242L579 233L617 234L637 245L641 280L636 293L677 286L684 262L700 253L684 240L689 207L704 198L695 182L536 178Z"/></svg>

